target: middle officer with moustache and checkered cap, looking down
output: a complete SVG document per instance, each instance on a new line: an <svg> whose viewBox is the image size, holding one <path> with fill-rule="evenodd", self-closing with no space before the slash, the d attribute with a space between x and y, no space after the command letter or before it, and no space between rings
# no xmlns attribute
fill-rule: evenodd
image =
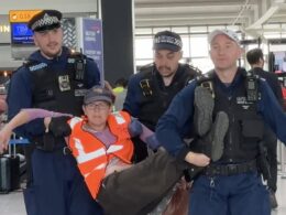
<svg viewBox="0 0 286 215"><path fill-rule="evenodd" d="M182 45L182 39L175 32L156 33L153 42L154 63L143 66L129 80L123 110L153 131L173 97L197 75L194 67L178 63L183 56ZM133 142L135 161L145 159L146 144L139 139Z"/></svg>

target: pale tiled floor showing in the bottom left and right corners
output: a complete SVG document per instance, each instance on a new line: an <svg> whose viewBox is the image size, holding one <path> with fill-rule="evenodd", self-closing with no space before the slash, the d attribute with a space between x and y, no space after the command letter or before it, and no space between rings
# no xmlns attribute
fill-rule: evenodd
<svg viewBox="0 0 286 215"><path fill-rule="evenodd" d="M276 193L279 207L272 215L286 215L286 179L278 176L278 191ZM0 195L1 215L25 215L23 193L21 191Z"/></svg>

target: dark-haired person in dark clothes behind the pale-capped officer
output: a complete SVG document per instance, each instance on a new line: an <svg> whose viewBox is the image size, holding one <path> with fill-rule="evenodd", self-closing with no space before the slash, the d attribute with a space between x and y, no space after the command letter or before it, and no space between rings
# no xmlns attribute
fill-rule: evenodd
<svg viewBox="0 0 286 215"><path fill-rule="evenodd" d="M264 58L261 49L253 49L246 53L246 60L252 67L252 72L262 78L265 78L274 95L283 107L283 95L279 80L274 73L263 69ZM265 128L263 135L265 147L267 147L267 159L270 164L270 179L267 179L267 186L270 189L271 206L276 208L278 206L275 192L277 190L277 137L270 128Z"/></svg>

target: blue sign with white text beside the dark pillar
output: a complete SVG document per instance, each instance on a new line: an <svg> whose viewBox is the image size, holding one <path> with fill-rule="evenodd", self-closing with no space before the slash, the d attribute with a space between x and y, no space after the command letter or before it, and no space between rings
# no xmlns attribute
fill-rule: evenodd
<svg viewBox="0 0 286 215"><path fill-rule="evenodd" d="M82 51L85 55L96 61L100 71L101 80L103 80L103 41L101 20L88 18L82 19Z"/></svg>

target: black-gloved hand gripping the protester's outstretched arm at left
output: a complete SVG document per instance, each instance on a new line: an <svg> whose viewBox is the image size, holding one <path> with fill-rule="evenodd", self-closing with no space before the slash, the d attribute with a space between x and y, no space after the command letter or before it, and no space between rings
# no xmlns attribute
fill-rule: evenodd
<svg viewBox="0 0 286 215"><path fill-rule="evenodd" d="M55 117L52 118L48 130L56 137L67 137L72 133L72 129L67 123L70 117Z"/></svg>

